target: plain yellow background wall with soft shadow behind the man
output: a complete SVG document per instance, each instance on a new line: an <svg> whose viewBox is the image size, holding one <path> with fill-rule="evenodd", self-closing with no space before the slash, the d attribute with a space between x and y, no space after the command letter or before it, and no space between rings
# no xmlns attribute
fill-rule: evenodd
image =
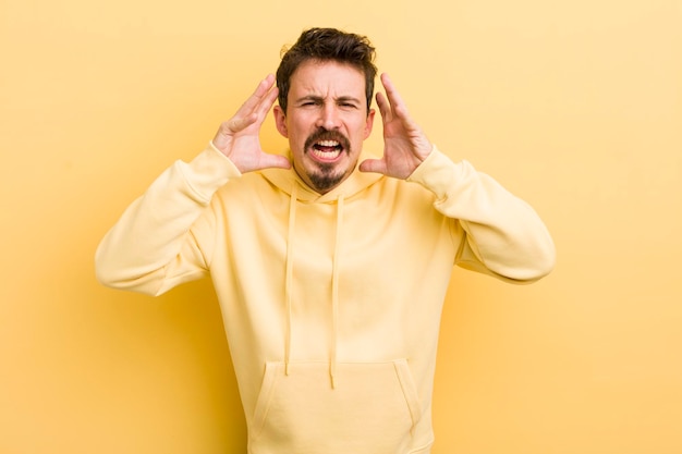
<svg viewBox="0 0 682 454"><path fill-rule="evenodd" d="M453 271L434 453L682 452L679 0L0 0L0 452L244 452L209 283L111 291L93 255L310 26L368 35L557 243L535 285Z"/></svg>

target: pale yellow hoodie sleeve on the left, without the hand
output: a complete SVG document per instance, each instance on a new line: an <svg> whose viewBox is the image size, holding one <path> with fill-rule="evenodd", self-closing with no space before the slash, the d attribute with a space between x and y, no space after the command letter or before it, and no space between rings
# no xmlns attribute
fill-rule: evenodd
<svg viewBox="0 0 682 454"><path fill-rule="evenodd" d="M114 289L159 295L206 275L212 244L206 207L216 191L239 176L212 145L188 163L174 162L100 242L97 279Z"/></svg>

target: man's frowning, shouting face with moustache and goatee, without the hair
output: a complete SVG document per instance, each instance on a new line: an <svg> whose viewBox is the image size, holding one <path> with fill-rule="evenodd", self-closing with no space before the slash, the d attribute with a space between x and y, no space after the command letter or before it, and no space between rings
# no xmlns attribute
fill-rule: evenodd
<svg viewBox="0 0 682 454"><path fill-rule="evenodd" d="M372 133L365 76L349 64L307 61L291 76L288 101L287 112L275 107L277 128L299 176L325 194L353 172Z"/></svg>

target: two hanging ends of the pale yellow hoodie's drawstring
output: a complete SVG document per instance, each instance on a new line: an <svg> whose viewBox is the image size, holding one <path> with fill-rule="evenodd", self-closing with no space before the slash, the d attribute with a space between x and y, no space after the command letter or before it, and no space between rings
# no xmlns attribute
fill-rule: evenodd
<svg viewBox="0 0 682 454"><path fill-rule="evenodd" d="M296 224L296 195L299 186L294 184L291 191L291 201L289 205L289 232L287 234L287 263L285 263L285 340L284 340L284 375L289 375L289 364L291 361L292 343L292 307L293 307L293 250L294 230ZM331 339L329 352L329 378L331 388L336 388L337 372L337 341L339 338L339 250L341 244L341 231L343 224L343 196L337 199L337 231L331 265Z"/></svg>

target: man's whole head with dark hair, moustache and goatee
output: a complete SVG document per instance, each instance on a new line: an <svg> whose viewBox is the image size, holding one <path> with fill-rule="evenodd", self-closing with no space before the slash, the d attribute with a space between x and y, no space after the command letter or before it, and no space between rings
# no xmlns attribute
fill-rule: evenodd
<svg viewBox="0 0 682 454"><path fill-rule="evenodd" d="M320 194L353 172L372 132L373 59L367 38L329 28L304 32L282 57L277 128L294 170Z"/></svg>

